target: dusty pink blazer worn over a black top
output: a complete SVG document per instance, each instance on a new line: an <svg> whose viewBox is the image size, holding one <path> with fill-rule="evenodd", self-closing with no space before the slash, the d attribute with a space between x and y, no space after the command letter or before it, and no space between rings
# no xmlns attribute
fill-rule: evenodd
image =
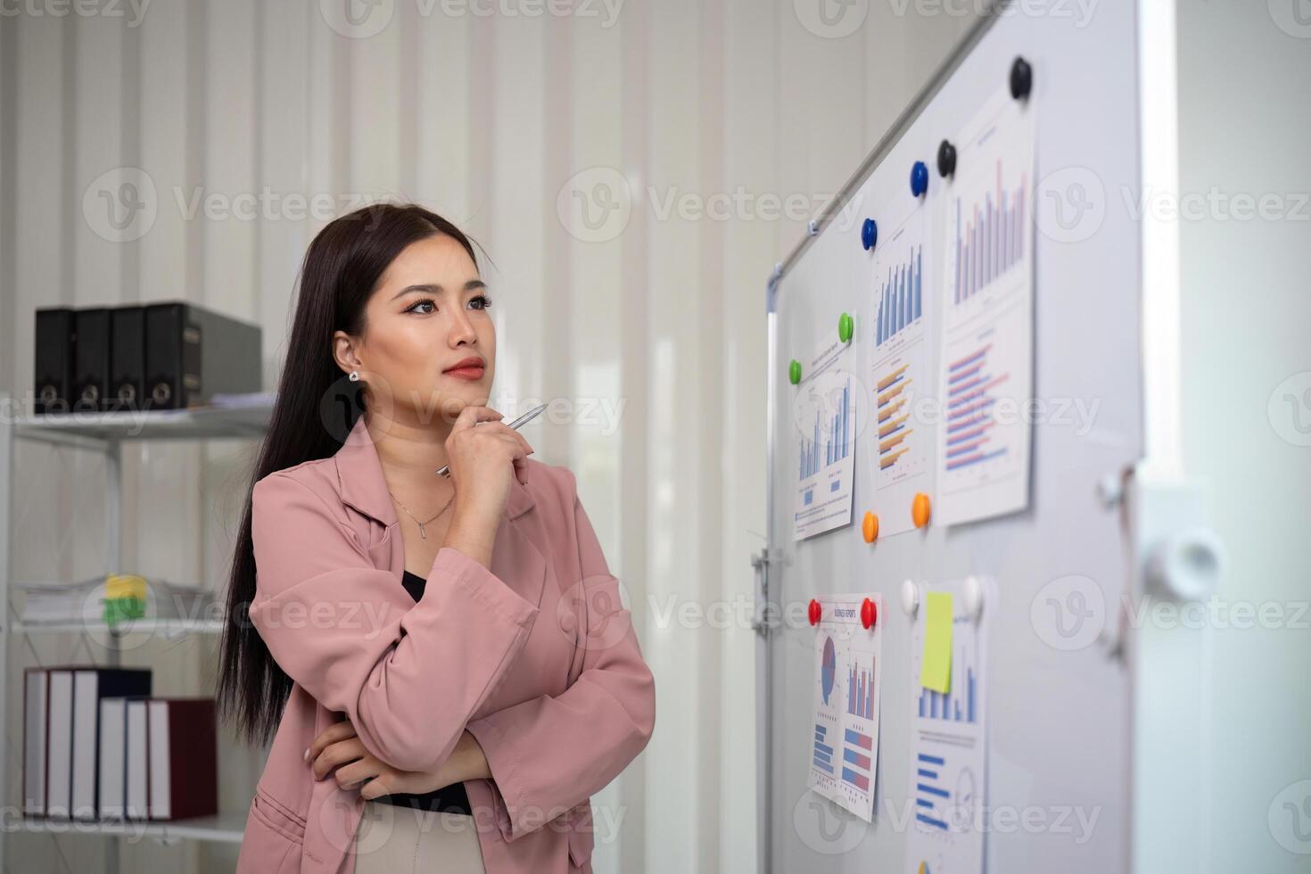
<svg viewBox="0 0 1311 874"><path fill-rule="evenodd" d="M489 874L591 870L589 798L646 746L656 688L573 473L527 464L492 569L443 546L417 603L363 417L333 457L256 482L250 621L294 687L237 874L354 869L364 799L302 760L343 715L402 770L477 738L493 778L464 788Z"/></svg>

